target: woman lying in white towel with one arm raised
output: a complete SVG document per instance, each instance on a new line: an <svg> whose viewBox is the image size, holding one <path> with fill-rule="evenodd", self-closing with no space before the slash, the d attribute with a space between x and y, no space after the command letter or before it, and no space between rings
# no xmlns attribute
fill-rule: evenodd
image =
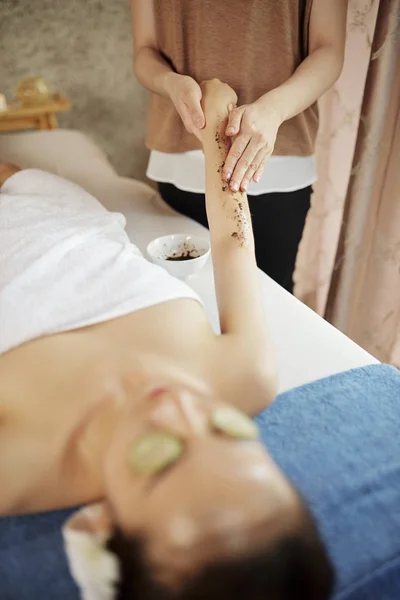
<svg viewBox="0 0 400 600"><path fill-rule="evenodd" d="M66 533L71 547L86 530L107 548L101 598L332 589L313 519L246 416L273 401L276 372L247 198L220 174L235 102L203 84L221 336L129 242L122 215L54 175L0 171L0 514L102 501Z"/></svg>

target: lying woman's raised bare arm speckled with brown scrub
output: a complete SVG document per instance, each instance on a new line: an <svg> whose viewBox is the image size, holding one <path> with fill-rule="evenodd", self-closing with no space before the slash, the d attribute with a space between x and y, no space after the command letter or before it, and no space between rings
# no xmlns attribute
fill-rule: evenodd
<svg viewBox="0 0 400 600"><path fill-rule="evenodd" d="M201 87L207 123L202 135L206 208L221 332L235 340L247 364L253 362L261 374L267 375L274 396L275 358L264 314L247 196L232 193L222 179L229 150L224 135L228 106L236 102L236 94L216 79Z"/></svg>

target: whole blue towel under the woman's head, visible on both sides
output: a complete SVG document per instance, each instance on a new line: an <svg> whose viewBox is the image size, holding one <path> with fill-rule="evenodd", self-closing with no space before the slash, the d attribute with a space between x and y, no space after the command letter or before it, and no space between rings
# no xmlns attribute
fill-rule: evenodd
<svg viewBox="0 0 400 600"><path fill-rule="evenodd" d="M335 600L398 600L400 372L374 365L316 381L279 396L257 421L320 523ZM1 600L78 600L60 533L70 513L0 520Z"/></svg>

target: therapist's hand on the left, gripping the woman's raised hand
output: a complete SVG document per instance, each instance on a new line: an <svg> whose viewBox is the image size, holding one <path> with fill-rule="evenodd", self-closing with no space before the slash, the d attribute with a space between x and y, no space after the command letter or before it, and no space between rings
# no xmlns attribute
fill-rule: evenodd
<svg viewBox="0 0 400 600"><path fill-rule="evenodd" d="M166 78L165 88L171 98L186 131L193 133L201 140L200 130L206 121L201 108L201 88L199 84L187 75L169 73Z"/></svg>

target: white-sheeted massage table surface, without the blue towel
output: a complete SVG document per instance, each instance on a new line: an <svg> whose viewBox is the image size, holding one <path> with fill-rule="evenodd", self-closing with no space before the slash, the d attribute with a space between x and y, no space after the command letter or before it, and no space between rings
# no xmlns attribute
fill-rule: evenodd
<svg viewBox="0 0 400 600"><path fill-rule="evenodd" d="M0 136L0 161L56 173L80 184L109 210L122 212L127 233L145 253L148 242L169 233L208 231L173 212L154 188L119 177L103 152L83 133L69 130ZM378 361L260 272L269 328L278 354L279 391ZM189 284L204 302L216 331L218 313L212 262Z"/></svg>

